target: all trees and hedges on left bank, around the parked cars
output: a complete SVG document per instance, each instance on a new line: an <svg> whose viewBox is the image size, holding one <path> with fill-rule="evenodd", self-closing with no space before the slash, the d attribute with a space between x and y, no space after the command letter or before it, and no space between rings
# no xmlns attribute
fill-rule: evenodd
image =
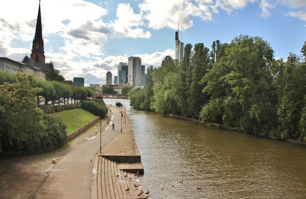
<svg viewBox="0 0 306 199"><path fill-rule="evenodd" d="M0 153L36 151L64 143L66 125L61 118L43 111L38 106L39 98L43 96L54 101L71 97L82 101L92 94L88 88L45 81L35 75L0 71ZM104 117L107 108L103 100L98 101L96 104L88 101L77 107Z"/></svg>

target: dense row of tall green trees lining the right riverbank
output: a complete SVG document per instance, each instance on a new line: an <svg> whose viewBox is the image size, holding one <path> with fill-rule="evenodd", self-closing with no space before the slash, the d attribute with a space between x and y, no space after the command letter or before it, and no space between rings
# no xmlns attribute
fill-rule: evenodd
<svg viewBox="0 0 306 199"><path fill-rule="evenodd" d="M181 63L166 56L161 67L148 67L145 88L129 93L131 105L306 141L306 42L285 61L258 36L216 40L211 49L187 44Z"/></svg>

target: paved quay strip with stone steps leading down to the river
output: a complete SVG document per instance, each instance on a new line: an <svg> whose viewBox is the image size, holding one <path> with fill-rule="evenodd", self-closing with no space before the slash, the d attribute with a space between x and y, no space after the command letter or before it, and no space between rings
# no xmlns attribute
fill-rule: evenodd
<svg viewBox="0 0 306 199"><path fill-rule="evenodd" d="M110 124L105 130L119 131L113 140L106 144L95 156L91 184L92 199L134 199L146 198L145 192L140 194L136 180L144 173L141 156L138 151L132 123L125 110L116 106L108 106ZM121 112L123 116L121 117ZM103 126L103 125L102 125ZM122 131L121 131L122 129ZM142 182L140 182L142 183Z"/></svg>

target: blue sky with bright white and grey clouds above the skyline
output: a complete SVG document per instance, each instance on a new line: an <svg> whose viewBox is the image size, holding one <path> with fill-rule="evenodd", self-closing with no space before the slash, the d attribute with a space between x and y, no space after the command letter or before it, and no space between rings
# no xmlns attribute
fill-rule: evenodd
<svg viewBox="0 0 306 199"><path fill-rule="evenodd" d="M186 44L236 36L259 36L274 58L300 55L306 40L306 0L41 0L46 63L66 80L84 77L85 86L117 76L119 62L137 56L160 67L175 57L175 32ZM39 0L2 1L0 57L30 57Z"/></svg>

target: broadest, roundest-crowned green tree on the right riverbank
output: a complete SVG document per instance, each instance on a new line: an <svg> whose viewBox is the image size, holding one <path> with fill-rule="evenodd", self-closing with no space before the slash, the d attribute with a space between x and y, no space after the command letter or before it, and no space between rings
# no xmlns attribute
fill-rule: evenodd
<svg viewBox="0 0 306 199"><path fill-rule="evenodd" d="M211 96L203 106L203 121L219 120L244 132L268 136L276 124L271 62L273 50L261 37L240 35L224 46L202 82Z"/></svg>

